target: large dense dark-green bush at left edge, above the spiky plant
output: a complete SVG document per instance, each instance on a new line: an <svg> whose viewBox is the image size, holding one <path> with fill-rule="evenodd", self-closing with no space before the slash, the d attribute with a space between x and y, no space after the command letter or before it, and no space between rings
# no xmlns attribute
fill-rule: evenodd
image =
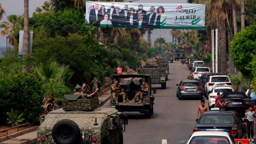
<svg viewBox="0 0 256 144"><path fill-rule="evenodd" d="M42 83L37 75L22 71L0 71L0 123L6 123L6 112L11 108L23 113L27 122L39 122L43 112Z"/></svg>

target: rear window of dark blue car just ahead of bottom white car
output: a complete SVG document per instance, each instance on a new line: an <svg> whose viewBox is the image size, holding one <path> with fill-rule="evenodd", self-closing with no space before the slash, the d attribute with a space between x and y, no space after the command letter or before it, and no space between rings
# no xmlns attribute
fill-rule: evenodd
<svg viewBox="0 0 256 144"><path fill-rule="evenodd" d="M233 115L202 115L198 124L234 124Z"/></svg>

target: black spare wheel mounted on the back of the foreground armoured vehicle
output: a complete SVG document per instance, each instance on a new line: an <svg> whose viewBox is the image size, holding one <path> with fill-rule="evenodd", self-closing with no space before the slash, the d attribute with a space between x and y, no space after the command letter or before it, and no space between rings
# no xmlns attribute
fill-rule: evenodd
<svg viewBox="0 0 256 144"><path fill-rule="evenodd" d="M52 128L52 138L57 144L79 143L80 129L70 119L61 119Z"/></svg>

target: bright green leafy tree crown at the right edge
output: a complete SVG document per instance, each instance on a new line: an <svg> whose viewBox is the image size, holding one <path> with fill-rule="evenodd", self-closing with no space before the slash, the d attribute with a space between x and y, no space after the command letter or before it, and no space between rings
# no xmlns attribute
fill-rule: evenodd
<svg viewBox="0 0 256 144"><path fill-rule="evenodd" d="M252 58L256 54L256 26L246 27L231 41L231 55L236 68L244 75L252 73Z"/></svg>

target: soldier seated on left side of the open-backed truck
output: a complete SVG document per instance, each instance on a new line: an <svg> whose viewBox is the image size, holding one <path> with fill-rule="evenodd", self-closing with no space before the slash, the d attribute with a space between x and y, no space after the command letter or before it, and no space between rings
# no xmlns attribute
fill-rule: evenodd
<svg viewBox="0 0 256 144"><path fill-rule="evenodd" d="M115 100L116 103L118 103L117 98L116 98L116 97L118 97L118 95L122 95L123 102L126 102L125 101L125 93L121 92L121 86L119 85L117 79L114 79L114 84L111 85L111 90L112 90L113 99Z"/></svg>

